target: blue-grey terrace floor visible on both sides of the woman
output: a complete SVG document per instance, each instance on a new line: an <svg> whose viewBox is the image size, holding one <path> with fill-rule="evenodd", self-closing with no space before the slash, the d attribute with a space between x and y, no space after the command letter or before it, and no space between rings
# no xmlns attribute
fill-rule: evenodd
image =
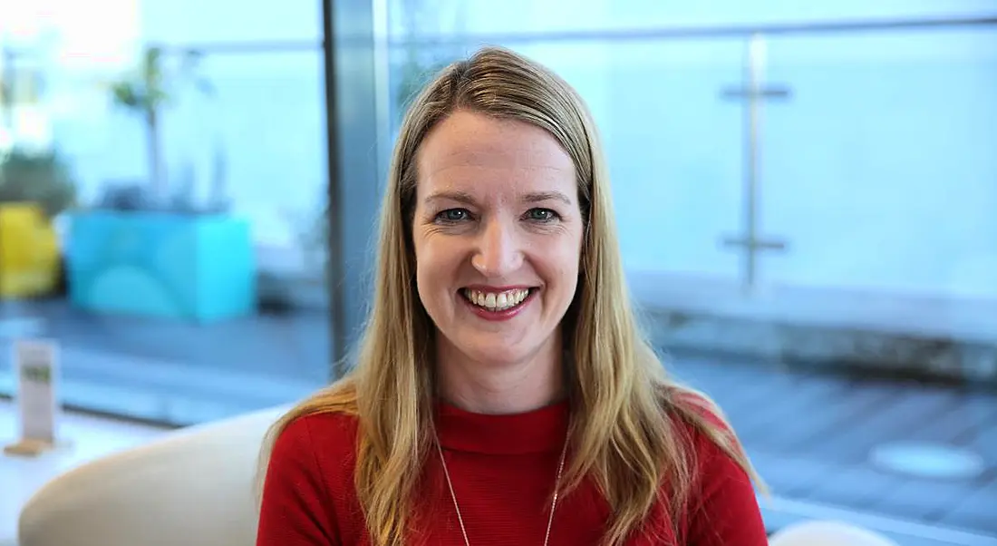
<svg viewBox="0 0 997 546"><path fill-rule="evenodd" d="M305 396L322 385L330 354L319 312L211 326L93 316L60 301L22 303L18 313L60 340L68 403L180 424ZM678 378L721 404L780 499L880 518L911 537L904 544L997 545L997 395L749 358L669 359ZM0 367L0 393L12 387ZM963 447L985 468L943 480L872 464L870 452L893 441ZM912 538L924 533L935 540Z"/></svg>

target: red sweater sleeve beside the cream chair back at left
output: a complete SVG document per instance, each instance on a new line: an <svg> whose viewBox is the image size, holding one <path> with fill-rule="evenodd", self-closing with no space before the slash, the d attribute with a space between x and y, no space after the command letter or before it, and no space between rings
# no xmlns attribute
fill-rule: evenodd
<svg viewBox="0 0 997 546"><path fill-rule="evenodd" d="M307 417L278 436L263 483L256 546L338 546Z"/></svg>

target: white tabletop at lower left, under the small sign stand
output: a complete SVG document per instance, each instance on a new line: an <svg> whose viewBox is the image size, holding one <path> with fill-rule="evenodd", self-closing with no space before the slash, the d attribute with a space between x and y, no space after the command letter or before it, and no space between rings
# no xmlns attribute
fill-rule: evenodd
<svg viewBox="0 0 997 546"><path fill-rule="evenodd" d="M15 405L0 400L0 444L17 439ZM34 458L0 451L0 546L15 544L21 508L42 485L63 472L96 458L155 439L168 430L149 425L67 413L60 436L66 447Z"/></svg>

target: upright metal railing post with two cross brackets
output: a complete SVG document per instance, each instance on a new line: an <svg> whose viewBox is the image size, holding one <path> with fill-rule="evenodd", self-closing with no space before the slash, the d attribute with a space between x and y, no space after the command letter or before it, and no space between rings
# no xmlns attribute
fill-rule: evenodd
<svg viewBox="0 0 997 546"><path fill-rule="evenodd" d="M745 167L743 180L743 210L741 213L742 233L723 240L725 247L733 247L743 252L742 282L747 291L753 291L758 283L758 255L762 251L783 251L786 243L779 240L762 239L759 234L759 206L761 203L761 131L762 105L766 99L786 98L790 92L785 88L767 88L763 84L765 74L765 39L761 34L753 34L748 39L745 58L744 86L727 90L725 98L747 101L744 107L744 146Z"/></svg>

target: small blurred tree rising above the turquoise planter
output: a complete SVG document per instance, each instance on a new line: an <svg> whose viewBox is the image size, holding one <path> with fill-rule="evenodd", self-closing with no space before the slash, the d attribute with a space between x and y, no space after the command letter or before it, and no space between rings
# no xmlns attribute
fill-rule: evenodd
<svg viewBox="0 0 997 546"><path fill-rule="evenodd" d="M161 195L166 186L160 135L163 109L173 102L174 93L181 83L190 83L201 93L214 95L210 83L197 73L201 59L199 51L182 51L179 64L175 67L167 67L165 57L163 48L147 48L138 70L111 85L114 103L140 116L146 124L150 182L153 191Z"/></svg>

